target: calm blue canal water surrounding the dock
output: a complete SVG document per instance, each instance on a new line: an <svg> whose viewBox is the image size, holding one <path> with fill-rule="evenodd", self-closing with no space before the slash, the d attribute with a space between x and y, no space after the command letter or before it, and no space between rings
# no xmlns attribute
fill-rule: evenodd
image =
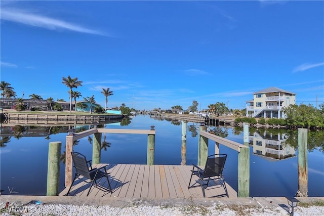
<svg viewBox="0 0 324 216"><path fill-rule="evenodd" d="M157 120L138 115L129 122L106 124L106 128L150 129L154 125L155 164L187 165L197 163L198 125L187 123L186 157L181 158L181 121ZM92 125L78 125L84 130ZM62 141L68 126L1 126L1 189L3 194L46 195L49 142ZM211 127L211 132L226 139L243 143L238 128ZM323 132L308 133L308 196L324 196L324 137ZM297 131L250 128L250 196L294 196L298 191ZM102 163L146 164L147 135L105 134L102 141ZM281 145L282 141L287 144ZM92 136L80 139L73 150L92 157ZM215 142L209 141L209 154L215 153ZM220 153L228 154L224 177L237 191L237 152L220 145ZM60 164L60 191L64 189L65 164ZM189 180L188 180L189 181Z"/></svg>

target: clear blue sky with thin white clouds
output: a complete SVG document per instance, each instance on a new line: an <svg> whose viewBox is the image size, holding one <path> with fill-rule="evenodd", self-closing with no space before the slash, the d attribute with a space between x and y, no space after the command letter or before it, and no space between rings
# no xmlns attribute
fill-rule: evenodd
<svg viewBox="0 0 324 216"><path fill-rule="evenodd" d="M324 101L323 1L1 1L1 80L17 97L244 109L276 87ZM79 98L82 100L83 98Z"/></svg>

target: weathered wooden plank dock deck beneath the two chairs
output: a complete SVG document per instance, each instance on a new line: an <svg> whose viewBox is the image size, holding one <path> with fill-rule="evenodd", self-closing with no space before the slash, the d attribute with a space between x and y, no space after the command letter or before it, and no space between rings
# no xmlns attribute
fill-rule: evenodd
<svg viewBox="0 0 324 216"><path fill-rule="evenodd" d="M95 167L108 165L112 193L99 187L92 187L89 197L128 197L128 198L177 198L203 197L198 184L188 189L192 166L190 165L144 165L144 164L96 164ZM197 180L192 177L191 184ZM226 180L226 176L225 176ZM99 185L107 188L105 178ZM76 180L69 196L87 196L90 184ZM236 198L237 192L226 183L229 198ZM59 196L64 196L65 188ZM219 181L210 181L205 189L206 197L226 198L225 190Z"/></svg>

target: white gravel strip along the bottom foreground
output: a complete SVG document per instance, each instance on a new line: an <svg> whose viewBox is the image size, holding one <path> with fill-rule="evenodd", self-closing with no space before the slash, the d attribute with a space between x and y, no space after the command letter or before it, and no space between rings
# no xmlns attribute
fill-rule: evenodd
<svg viewBox="0 0 324 216"><path fill-rule="evenodd" d="M20 205L15 202L8 205L0 203L1 215L290 215L288 208L263 206L237 206L228 207L224 204L214 203L212 206L132 206L110 207L107 205L71 205L71 204L28 204ZM294 215L324 215L324 206L295 207Z"/></svg>

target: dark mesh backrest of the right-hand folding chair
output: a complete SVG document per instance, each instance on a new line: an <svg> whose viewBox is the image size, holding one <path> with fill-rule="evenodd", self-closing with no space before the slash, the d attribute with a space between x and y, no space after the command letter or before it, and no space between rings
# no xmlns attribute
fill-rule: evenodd
<svg viewBox="0 0 324 216"><path fill-rule="evenodd" d="M204 178L221 176L225 165L227 154L213 154L208 156Z"/></svg>

